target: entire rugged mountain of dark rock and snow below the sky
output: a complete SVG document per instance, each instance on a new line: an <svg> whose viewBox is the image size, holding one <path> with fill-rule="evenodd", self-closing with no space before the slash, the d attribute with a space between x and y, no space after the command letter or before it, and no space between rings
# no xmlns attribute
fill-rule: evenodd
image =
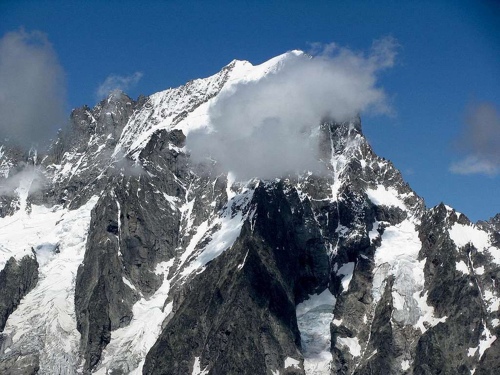
<svg viewBox="0 0 500 375"><path fill-rule="evenodd" d="M359 117L321 162L236 181L184 146L261 65L71 112L0 146L0 373L495 374L500 215L426 208Z"/></svg>

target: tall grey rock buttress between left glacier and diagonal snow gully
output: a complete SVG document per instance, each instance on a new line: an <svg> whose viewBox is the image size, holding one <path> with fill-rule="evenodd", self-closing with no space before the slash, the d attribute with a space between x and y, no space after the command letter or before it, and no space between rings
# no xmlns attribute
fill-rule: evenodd
<svg viewBox="0 0 500 375"><path fill-rule="evenodd" d="M130 322L132 305L140 297L149 298L163 282L163 275L154 273L156 265L175 254L180 221L175 202L184 192L173 177L183 173L185 158L168 145L178 147L183 141L182 133L161 131L143 149L143 167L118 165L108 172L108 186L114 187L102 192L92 210L76 276L85 372L100 359L111 330ZM153 174L166 170L172 174Z"/></svg>

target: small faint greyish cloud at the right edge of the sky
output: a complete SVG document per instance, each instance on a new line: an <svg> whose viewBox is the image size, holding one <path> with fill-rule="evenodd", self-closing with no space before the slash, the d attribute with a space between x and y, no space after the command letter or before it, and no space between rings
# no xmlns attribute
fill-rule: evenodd
<svg viewBox="0 0 500 375"><path fill-rule="evenodd" d="M450 165L452 173L492 177L500 172L500 114L492 103L468 107L465 127L456 144L465 157Z"/></svg>

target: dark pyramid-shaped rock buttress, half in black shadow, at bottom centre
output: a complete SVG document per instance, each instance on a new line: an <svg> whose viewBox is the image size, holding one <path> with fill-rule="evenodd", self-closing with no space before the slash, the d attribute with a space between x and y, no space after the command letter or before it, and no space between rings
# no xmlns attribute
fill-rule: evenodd
<svg viewBox="0 0 500 375"><path fill-rule="evenodd" d="M181 302L174 295L144 373L190 373L196 363L214 374L303 373L283 368L287 357L303 360L295 300L324 290L329 269L317 227L302 231L311 212L292 214L297 207L294 189L258 182L234 244L189 280Z"/></svg>

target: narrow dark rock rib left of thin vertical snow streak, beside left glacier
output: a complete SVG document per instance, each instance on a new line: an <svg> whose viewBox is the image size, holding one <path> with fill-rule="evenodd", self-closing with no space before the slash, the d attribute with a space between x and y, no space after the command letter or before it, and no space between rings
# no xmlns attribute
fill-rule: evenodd
<svg viewBox="0 0 500 375"><path fill-rule="evenodd" d="M110 208L111 204L115 201L105 195L92 209L85 256L76 276L76 321L85 350L85 370L100 359L111 329L130 322L130 306L138 299L122 276L117 252L117 212L115 207Z"/></svg>

